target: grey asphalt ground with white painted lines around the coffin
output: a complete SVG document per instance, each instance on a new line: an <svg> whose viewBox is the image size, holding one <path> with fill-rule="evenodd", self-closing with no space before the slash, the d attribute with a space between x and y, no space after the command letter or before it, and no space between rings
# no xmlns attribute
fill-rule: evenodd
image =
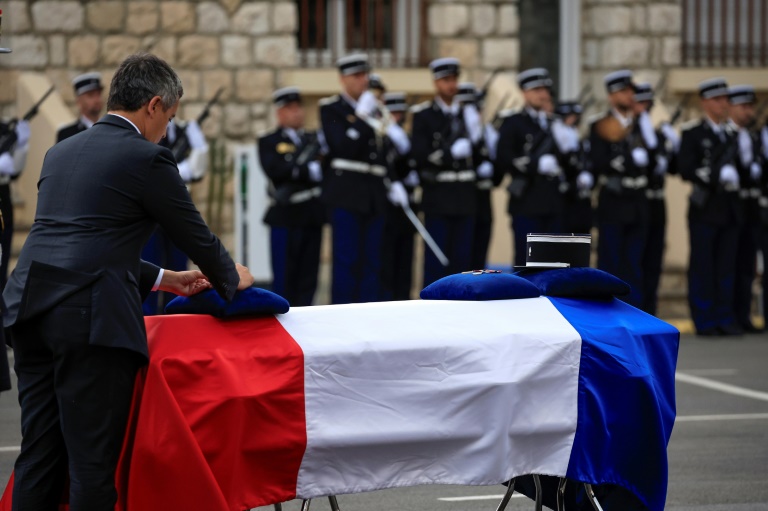
<svg viewBox="0 0 768 511"><path fill-rule="evenodd" d="M715 340L683 335L677 368L666 509L768 511L768 334ZM0 489L20 441L16 394L4 392ZM501 486L420 486L338 500L341 511L494 511L502 493ZM283 509L298 511L300 504L292 501ZM517 496L507 509L533 509L533 502ZM330 508L318 499L311 510Z"/></svg>

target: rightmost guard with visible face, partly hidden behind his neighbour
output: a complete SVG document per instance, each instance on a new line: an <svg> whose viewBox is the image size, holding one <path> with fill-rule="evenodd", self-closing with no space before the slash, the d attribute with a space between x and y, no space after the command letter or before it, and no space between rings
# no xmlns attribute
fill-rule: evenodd
<svg viewBox="0 0 768 511"><path fill-rule="evenodd" d="M752 131L757 97L752 86L738 85L729 89L728 99L731 128L738 144L735 166L744 208L744 221L736 243L734 312L738 326L747 333L757 333L761 330L752 324L752 285L760 246L759 199L763 173L759 134Z"/></svg>

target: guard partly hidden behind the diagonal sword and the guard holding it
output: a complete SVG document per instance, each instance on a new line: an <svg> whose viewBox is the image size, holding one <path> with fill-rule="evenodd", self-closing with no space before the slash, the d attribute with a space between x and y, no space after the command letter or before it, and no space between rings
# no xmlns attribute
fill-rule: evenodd
<svg viewBox="0 0 768 511"><path fill-rule="evenodd" d="M392 120L403 126L408 104L402 92L388 92L382 96ZM410 161L410 140L403 131L402 143L392 149L395 173L405 185L411 209L416 209L414 191L419 185L418 173ZM410 300L413 282L413 247L415 229L403 209L395 204L387 207L384 223L384 242L381 256L382 300Z"/></svg>

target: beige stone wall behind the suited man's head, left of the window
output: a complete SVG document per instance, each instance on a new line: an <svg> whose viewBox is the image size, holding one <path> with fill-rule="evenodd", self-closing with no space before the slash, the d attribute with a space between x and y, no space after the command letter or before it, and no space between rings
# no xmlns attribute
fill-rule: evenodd
<svg viewBox="0 0 768 511"><path fill-rule="evenodd" d="M204 130L210 137L245 140L268 127L279 69L297 62L291 0L13 0L3 3L3 11L3 45L13 48L0 59L6 116L16 113L19 72L47 74L74 105L72 77L98 70L109 81L123 58L147 49L181 76L180 118L197 115L224 87Z"/></svg>

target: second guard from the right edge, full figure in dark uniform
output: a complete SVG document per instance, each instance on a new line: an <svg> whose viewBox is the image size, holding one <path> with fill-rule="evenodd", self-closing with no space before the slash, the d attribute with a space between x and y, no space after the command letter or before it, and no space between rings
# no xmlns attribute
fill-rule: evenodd
<svg viewBox="0 0 768 511"><path fill-rule="evenodd" d="M698 335L742 333L733 309L736 244L743 220L736 169L738 142L729 128L728 84L699 84L704 117L685 126L680 175L693 183L689 207L688 302Z"/></svg>

